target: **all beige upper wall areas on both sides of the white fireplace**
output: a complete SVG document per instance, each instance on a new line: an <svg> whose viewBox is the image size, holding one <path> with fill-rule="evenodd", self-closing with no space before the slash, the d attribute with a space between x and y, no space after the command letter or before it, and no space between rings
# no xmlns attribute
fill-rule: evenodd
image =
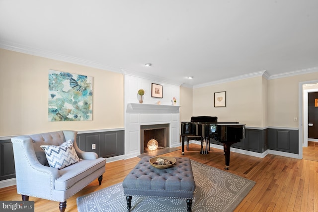
<svg viewBox="0 0 318 212"><path fill-rule="evenodd" d="M50 69L93 77L92 121L48 121ZM0 80L0 136L124 128L120 73L0 49ZM298 128L294 117L298 117L299 83L314 80L318 81L318 72L272 80L259 76L194 89L181 86L180 121L210 115L252 127ZM214 107L214 93L222 91L227 92L227 106Z"/></svg>

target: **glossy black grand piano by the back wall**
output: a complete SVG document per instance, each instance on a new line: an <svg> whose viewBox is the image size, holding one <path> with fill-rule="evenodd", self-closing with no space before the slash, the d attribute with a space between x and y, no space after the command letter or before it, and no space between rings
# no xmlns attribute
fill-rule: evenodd
<svg viewBox="0 0 318 212"><path fill-rule="evenodd" d="M214 142L223 143L225 169L228 170L230 167L231 145L245 138L245 124L218 122L218 117L216 116L192 116L190 122L181 122L182 155L184 155L185 138L188 142L191 137L201 140L200 154L209 154L210 139ZM204 143L205 145L203 145Z"/></svg>

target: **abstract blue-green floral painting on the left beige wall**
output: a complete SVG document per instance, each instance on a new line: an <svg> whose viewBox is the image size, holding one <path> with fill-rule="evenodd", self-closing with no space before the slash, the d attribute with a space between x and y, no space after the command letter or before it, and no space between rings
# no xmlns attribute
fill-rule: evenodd
<svg viewBox="0 0 318 212"><path fill-rule="evenodd" d="M49 70L49 121L90 121L93 78Z"/></svg>

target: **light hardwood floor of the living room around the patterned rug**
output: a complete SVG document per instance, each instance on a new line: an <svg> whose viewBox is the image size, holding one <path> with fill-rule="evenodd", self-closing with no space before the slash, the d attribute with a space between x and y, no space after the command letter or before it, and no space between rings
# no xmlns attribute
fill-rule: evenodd
<svg viewBox="0 0 318 212"><path fill-rule="evenodd" d="M224 170L223 151L211 148L210 154L200 155L200 145L190 144L189 151L164 154L172 157L189 157L200 163ZM106 164L103 182L90 183L67 200L66 212L77 212L76 198L120 183L140 159L138 157ZM318 162L276 155L264 158L231 152L230 170L233 174L253 180L256 185L236 208L235 212L317 212ZM1 201L21 200L16 187L0 189ZM30 197L35 201L35 212L58 211L59 203ZM195 204L195 203L194 203Z"/></svg>

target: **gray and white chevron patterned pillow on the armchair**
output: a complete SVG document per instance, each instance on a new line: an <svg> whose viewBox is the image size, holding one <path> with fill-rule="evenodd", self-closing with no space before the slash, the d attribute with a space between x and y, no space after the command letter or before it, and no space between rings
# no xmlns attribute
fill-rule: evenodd
<svg viewBox="0 0 318 212"><path fill-rule="evenodd" d="M60 146L41 145L40 147L44 150L50 167L53 168L63 169L81 160L71 140L65 141Z"/></svg>

